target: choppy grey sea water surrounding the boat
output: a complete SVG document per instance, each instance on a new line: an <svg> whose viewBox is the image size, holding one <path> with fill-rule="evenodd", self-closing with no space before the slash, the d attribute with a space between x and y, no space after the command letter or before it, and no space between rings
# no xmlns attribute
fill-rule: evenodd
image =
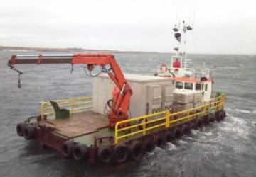
<svg viewBox="0 0 256 177"><path fill-rule="evenodd" d="M16 124L39 112L39 102L91 94L92 79L82 66L70 64L6 66L13 54L0 51L0 176L256 176L256 56L188 55L191 67L206 62L214 88L225 91L227 117L178 142L146 154L142 162L99 169L61 159L52 149L16 135ZM114 54L123 72L154 74L156 66L170 62L170 54Z"/></svg>

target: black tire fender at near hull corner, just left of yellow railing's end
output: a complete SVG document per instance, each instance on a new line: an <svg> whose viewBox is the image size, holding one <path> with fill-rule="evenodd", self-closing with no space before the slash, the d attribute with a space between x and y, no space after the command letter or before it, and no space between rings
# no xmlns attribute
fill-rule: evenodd
<svg viewBox="0 0 256 177"><path fill-rule="evenodd" d="M97 159L104 164L110 163L113 159L113 150L111 147L100 147L97 150Z"/></svg>

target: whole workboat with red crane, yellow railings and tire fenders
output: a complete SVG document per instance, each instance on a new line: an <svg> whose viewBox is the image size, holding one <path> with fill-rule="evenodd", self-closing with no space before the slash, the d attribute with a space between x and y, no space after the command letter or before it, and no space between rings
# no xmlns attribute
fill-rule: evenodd
<svg viewBox="0 0 256 177"><path fill-rule="evenodd" d="M179 67L161 65L158 76L143 76L123 74L111 54L13 55L8 66L19 76L16 64L63 63L85 64L93 76L92 96L41 102L38 115L16 131L65 159L101 166L142 161L155 147L225 118L225 94L211 90L210 71L198 75L186 68L180 52L171 57L177 58ZM93 75L96 65L100 73Z"/></svg>

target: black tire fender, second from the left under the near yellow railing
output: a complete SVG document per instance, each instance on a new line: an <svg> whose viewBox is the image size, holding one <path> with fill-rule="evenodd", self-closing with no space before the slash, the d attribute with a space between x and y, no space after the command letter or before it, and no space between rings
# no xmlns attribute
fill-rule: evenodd
<svg viewBox="0 0 256 177"><path fill-rule="evenodd" d="M144 148L143 144L140 141L134 141L130 145L131 149L131 157L134 161L142 161L143 154L144 154Z"/></svg>

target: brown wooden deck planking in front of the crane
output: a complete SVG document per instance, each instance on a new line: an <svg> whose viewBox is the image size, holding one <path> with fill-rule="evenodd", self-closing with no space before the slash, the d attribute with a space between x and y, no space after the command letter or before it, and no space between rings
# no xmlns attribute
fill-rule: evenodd
<svg viewBox="0 0 256 177"><path fill-rule="evenodd" d="M55 132L68 138L97 132L108 127L107 115L94 113L91 110L81 113L70 114L70 118L58 120L46 120L46 127L53 127Z"/></svg>

